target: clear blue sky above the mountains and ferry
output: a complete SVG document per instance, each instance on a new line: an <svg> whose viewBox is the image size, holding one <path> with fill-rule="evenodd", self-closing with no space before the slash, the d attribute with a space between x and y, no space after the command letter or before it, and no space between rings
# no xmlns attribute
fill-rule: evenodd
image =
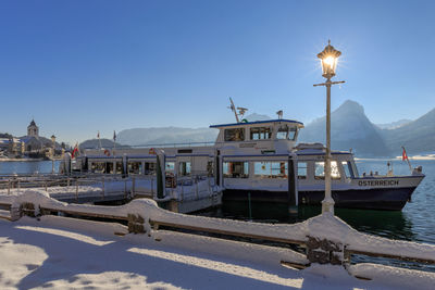
<svg viewBox="0 0 435 290"><path fill-rule="evenodd" d="M60 140L206 127L236 105L324 115L316 53L343 52L333 109L374 123L435 108L435 1L1 1L0 131Z"/></svg>

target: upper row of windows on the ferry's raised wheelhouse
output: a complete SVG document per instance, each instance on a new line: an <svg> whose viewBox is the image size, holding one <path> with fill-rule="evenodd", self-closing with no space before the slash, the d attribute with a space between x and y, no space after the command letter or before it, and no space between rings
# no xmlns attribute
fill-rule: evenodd
<svg viewBox="0 0 435 290"><path fill-rule="evenodd" d="M224 130L225 141L245 141L246 128L232 128ZM276 139L295 140L296 127L288 127L287 125L279 126L276 133ZM272 127L252 127L249 128L249 140L268 140L272 139Z"/></svg>

